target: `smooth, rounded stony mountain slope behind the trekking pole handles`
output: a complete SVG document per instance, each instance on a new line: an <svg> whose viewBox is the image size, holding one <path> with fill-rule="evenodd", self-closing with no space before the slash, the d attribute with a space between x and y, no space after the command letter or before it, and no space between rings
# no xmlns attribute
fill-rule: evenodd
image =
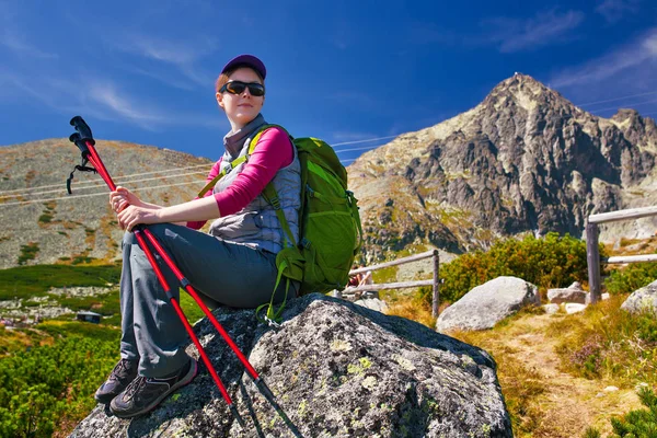
<svg viewBox="0 0 657 438"><path fill-rule="evenodd" d="M96 149L117 185L151 203L194 198L211 165L207 159L122 141L99 140ZM123 231L103 180L76 172L73 194L67 195L66 180L80 164L80 152L68 139L0 148L0 268L119 256Z"/></svg>

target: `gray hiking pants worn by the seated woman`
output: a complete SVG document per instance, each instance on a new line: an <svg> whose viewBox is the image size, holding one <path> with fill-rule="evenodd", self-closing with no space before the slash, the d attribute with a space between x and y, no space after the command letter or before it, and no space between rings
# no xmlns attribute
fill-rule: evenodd
<svg viewBox="0 0 657 438"><path fill-rule="evenodd" d="M208 307L256 308L272 299L276 254L171 223L148 229ZM152 253L177 300L178 280L157 252ZM285 284L280 281L276 290L277 302L286 293ZM288 297L295 293L296 285L290 284ZM120 313L120 356L139 360L140 376L160 378L186 364L187 332L131 232L123 240Z"/></svg>

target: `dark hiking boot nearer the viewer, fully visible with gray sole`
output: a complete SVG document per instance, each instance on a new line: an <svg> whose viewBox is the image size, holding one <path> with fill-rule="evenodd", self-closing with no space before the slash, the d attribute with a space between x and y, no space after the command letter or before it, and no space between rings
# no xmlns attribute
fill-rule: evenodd
<svg viewBox="0 0 657 438"><path fill-rule="evenodd" d="M112 400L110 408L119 418L146 414L159 405L166 395L189 383L196 376L196 360L189 359L187 365L170 378L155 379L137 376L124 392Z"/></svg>

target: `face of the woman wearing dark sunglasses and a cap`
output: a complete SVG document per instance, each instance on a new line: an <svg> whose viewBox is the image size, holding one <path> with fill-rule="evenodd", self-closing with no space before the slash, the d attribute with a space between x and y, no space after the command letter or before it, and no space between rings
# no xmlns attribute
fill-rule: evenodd
<svg viewBox="0 0 657 438"><path fill-rule="evenodd" d="M230 81L241 81L245 83L257 82L263 83L258 76L252 69L244 67L239 68L230 76ZM231 94L228 91L217 93L217 103L223 108L233 131L241 129L249 122L253 120L263 108L265 96L254 96L244 88L240 94Z"/></svg>

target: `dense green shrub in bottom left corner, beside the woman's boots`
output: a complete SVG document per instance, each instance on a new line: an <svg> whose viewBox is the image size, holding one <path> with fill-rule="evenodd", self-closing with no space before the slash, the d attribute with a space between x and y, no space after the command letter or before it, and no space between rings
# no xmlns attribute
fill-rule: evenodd
<svg viewBox="0 0 657 438"><path fill-rule="evenodd" d="M112 332L107 339L74 335L0 358L0 436L49 437L62 417L87 415L118 358L119 332Z"/></svg>

